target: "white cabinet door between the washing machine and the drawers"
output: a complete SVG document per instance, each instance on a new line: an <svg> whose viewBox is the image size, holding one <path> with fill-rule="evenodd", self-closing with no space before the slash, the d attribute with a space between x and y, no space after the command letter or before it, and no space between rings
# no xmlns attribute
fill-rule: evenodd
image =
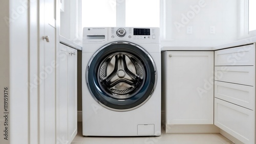
<svg viewBox="0 0 256 144"><path fill-rule="evenodd" d="M214 52L166 52L166 124L214 124Z"/></svg>

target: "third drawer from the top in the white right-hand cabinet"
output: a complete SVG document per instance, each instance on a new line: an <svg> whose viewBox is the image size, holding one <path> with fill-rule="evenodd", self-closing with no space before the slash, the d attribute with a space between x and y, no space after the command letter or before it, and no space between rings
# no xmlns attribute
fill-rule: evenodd
<svg viewBox="0 0 256 144"><path fill-rule="evenodd" d="M254 110L254 87L215 81L215 97Z"/></svg>

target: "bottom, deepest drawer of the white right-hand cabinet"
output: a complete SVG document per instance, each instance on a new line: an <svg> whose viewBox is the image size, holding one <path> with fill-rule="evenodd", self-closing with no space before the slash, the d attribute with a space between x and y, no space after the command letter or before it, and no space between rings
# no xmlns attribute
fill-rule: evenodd
<svg viewBox="0 0 256 144"><path fill-rule="evenodd" d="M244 143L254 144L254 117L252 110L215 98L215 125Z"/></svg>

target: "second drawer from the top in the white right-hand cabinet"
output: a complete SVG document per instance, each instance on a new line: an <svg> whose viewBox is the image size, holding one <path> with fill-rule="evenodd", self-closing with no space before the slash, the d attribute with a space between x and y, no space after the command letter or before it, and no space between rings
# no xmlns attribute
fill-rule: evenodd
<svg viewBox="0 0 256 144"><path fill-rule="evenodd" d="M215 80L254 86L254 66L216 66Z"/></svg>

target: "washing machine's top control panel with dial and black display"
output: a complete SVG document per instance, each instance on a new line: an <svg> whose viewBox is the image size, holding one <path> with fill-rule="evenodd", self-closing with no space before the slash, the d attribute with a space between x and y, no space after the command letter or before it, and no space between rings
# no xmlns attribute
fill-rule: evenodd
<svg viewBox="0 0 256 144"><path fill-rule="evenodd" d="M160 43L159 27L84 27L83 43L130 41L135 43Z"/></svg>

